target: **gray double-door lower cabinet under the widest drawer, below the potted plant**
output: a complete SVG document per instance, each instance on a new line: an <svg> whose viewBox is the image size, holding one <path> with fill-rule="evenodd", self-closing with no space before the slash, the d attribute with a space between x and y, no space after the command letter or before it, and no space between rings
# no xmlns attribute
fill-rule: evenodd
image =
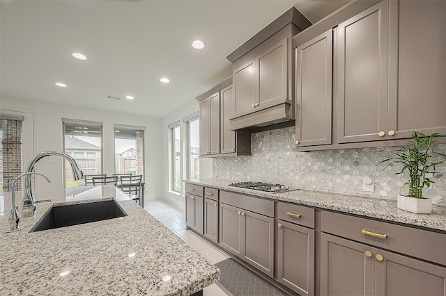
<svg viewBox="0 0 446 296"><path fill-rule="evenodd" d="M446 268L321 233L321 295L446 295Z"/></svg>

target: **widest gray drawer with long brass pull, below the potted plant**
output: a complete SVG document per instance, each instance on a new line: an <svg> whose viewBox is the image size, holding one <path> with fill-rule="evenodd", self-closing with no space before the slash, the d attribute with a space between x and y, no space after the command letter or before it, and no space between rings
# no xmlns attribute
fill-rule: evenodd
<svg viewBox="0 0 446 296"><path fill-rule="evenodd" d="M328 211L321 212L321 231L446 265L445 233Z"/></svg>

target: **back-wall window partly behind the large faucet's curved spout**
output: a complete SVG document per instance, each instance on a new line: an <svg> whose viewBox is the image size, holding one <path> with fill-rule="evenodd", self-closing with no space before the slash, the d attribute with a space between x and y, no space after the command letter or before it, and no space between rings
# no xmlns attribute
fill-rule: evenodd
<svg viewBox="0 0 446 296"><path fill-rule="evenodd" d="M102 174L102 122L63 119L63 151L75 158L84 175ZM65 186L84 185L75 181L71 165L65 162Z"/></svg>

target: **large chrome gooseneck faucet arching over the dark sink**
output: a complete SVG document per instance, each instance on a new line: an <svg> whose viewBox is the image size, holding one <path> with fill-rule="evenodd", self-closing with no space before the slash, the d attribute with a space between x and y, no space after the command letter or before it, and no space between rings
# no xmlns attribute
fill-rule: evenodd
<svg viewBox="0 0 446 296"><path fill-rule="evenodd" d="M77 166L76 161L71 156L69 156L68 154L61 152L61 151L44 151L44 152L37 154L29 162L28 166L26 167L25 174L34 172L34 167L36 166L36 163L38 163L38 161L40 161L40 159L42 159L46 156L61 156L62 158L65 158L66 161L68 161L68 163L70 163L70 165L71 165L72 174L74 176L74 179L80 180L80 179L84 178L84 174ZM24 206L24 207L32 206L33 211L34 211L36 209L36 198L34 197L34 194L33 194L33 187L31 184L32 178L30 175L31 174L26 174L22 206Z"/></svg>

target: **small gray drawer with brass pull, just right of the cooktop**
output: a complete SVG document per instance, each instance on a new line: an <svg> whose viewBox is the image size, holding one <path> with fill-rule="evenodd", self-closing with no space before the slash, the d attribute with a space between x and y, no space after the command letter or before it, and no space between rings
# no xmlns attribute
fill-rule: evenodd
<svg viewBox="0 0 446 296"><path fill-rule="evenodd" d="M314 208L278 202L277 217L280 220L314 228Z"/></svg>

